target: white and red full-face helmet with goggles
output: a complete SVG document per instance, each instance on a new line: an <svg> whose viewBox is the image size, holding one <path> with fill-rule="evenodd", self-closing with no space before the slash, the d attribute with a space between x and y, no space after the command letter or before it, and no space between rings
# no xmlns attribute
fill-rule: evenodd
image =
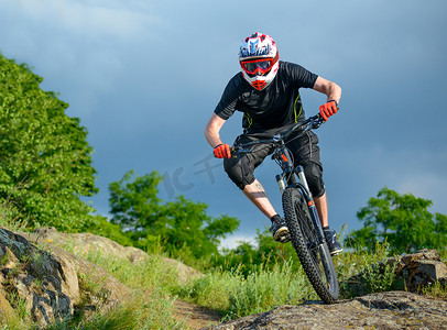
<svg viewBox="0 0 447 330"><path fill-rule="evenodd" d="M263 33L253 33L246 37L239 50L239 63L243 78L262 90L276 76L279 63L277 47L274 40Z"/></svg>

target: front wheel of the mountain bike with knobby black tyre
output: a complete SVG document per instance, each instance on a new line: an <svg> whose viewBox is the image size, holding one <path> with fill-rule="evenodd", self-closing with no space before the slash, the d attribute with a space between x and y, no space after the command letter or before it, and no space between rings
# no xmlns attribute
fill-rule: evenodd
<svg viewBox="0 0 447 330"><path fill-rule="evenodd" d="M339 286L334 262L326 243L319 243L301 188L288 187L283 194L285 221L291 232L292 245L317 295L326 304L334 304L339 296Z"/></svg>

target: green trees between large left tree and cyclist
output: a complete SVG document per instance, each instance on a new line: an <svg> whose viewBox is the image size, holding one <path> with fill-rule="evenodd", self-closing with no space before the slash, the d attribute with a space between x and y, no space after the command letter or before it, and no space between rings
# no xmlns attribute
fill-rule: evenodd
<svg viewBox="0 0 447 330"><path fill-rule="evenodd" d="M134 176L130 170L121 180L109 185L111 222L119 224L134 245L148 249L162 242L165 251L175 254L189 250L196 258L218 252L220 239L232 233L239 220L206 213L207 206L184 196L163 202L157 197L157 185L163 177L157 172Z"/></svg>

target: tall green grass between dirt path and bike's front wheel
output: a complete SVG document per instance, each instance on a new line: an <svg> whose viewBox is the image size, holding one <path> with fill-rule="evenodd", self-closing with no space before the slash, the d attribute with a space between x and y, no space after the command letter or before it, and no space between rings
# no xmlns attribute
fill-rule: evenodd
<svg viewBox="0 0 447 330"><path fill-rule="evenodd" d="M303 271L296 272L291 262L276 264L272 270L253 265L247 276L241 274L240 268L212 271L183 287L178 295L193 304L219 310L224 319L317 298Z"/></svg>

